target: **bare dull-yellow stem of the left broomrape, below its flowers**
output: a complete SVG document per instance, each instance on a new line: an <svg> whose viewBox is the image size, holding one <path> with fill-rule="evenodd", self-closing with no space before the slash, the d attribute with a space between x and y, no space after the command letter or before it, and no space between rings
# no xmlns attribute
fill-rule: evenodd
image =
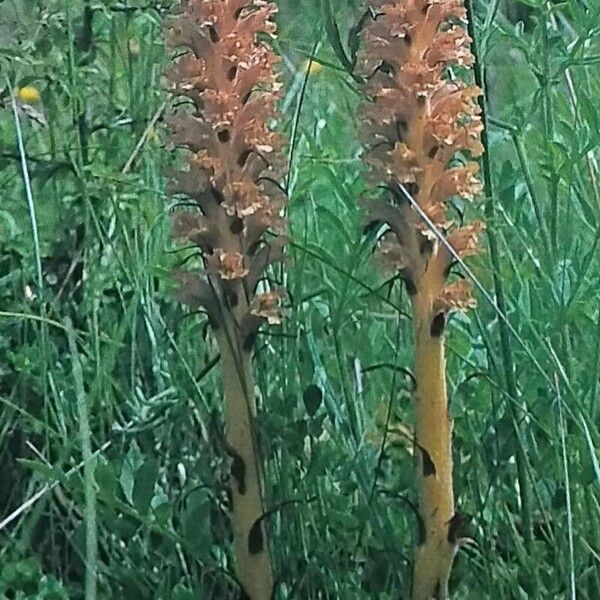
<svg viewBox="0 0 600 600"><path fill-rule="evenodd" d="M230 328L221 328L217 337L223 369L226 439L232 455L231 522L236 575L249 600L270 600L273 574L269 545L264 523L257 525L264 509L260 457L253 430L256 403L252 360Z"/></svg>

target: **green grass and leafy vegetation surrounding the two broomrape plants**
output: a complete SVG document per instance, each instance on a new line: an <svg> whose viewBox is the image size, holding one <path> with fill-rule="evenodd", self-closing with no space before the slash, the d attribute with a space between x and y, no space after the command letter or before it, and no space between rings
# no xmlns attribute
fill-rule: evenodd
<svg viewBox="0 0 600 600"><path fill-rule="evenodd" d="M4 598L82 598L86 522L99 597L235 597L217 350L169 278L185 259L164 195L169 5L0 1ZM362 11L279 5L292 242L273 276L290 311L256 360L279 595L402 598L416 525L411 323L361 227L346 59ZM449 332L455 487L475 541L452 588L596 599L600 6L472 10L489 120L474 211L489 247L471 265L496 306L480 293ZM24 178L11 96L25 85L41 102L20 109Z"/></svg>

